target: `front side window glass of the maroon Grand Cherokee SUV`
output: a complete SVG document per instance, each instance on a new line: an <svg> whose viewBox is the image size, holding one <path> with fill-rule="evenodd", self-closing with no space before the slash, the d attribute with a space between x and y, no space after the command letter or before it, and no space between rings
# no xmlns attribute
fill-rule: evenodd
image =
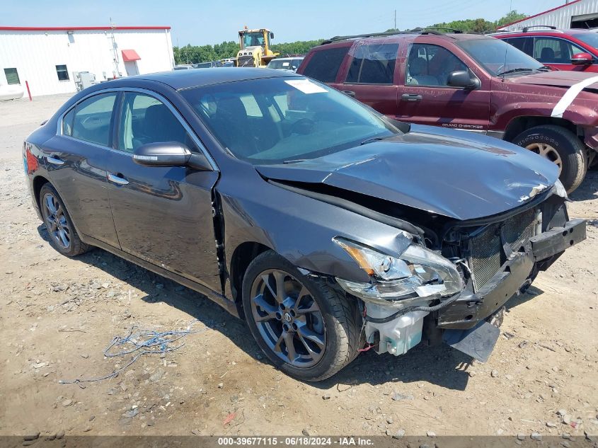
<svg viewBox="0 0 598 448"><path fill-rule="evenodd" d="M407 58L405 84L447 87L449 74L461 70L467 71L467 66L446 48L413 44Z"/></svg>

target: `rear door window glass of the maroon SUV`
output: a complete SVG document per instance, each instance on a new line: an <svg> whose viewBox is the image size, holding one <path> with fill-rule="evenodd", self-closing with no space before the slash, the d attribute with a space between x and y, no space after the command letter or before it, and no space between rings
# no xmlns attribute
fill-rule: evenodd
<svg viewBox="0 0 598 448"><path fill-rule="evenodd" d="M345 82L350 84L393 84L398 44L359 45Z"/></svg>

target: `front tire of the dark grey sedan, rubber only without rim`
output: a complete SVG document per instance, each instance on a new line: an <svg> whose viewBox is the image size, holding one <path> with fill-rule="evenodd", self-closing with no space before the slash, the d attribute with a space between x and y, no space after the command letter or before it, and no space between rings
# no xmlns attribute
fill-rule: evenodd
<svg viewBox="0 0 598 448"><path fill-rule="evenodd" d="M321 359L311 367L295 367L279 357L266 343L258 330L252 311L251 289L258 277L268 270L280 270L306 287L321 311L326 337ZM333 376L359 355L362 347L362 318L356 299L349 299L338 287L321 277L309 277L301 274L288 260L274 251L258 255L248 266L243 277L243 310L255 341L266 357L291 377L302 381L321 381Z"/></svg>

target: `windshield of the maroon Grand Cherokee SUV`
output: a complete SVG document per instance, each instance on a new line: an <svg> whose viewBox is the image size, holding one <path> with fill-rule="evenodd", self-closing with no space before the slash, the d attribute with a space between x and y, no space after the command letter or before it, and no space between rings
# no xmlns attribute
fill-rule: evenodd
<svg viewBox="0 0 598 448"><path fill-rule="evenodd" d="M457 45L476 59L491 75L536 71L544 65L507 42L498 39L461 40Z"/></svg>

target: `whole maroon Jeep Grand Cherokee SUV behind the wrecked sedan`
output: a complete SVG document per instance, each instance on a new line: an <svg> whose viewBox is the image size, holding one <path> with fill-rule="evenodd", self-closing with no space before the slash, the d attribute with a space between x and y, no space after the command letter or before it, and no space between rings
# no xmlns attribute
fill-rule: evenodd
<svg viewBox="0 0 598 448"><path fill-rule="evenodd" d="M592 75L551 71L495 38L437 31L332 38L314 47L297 72L395 120L519 144L556 163L568 192L596 155Z"/></svg>

